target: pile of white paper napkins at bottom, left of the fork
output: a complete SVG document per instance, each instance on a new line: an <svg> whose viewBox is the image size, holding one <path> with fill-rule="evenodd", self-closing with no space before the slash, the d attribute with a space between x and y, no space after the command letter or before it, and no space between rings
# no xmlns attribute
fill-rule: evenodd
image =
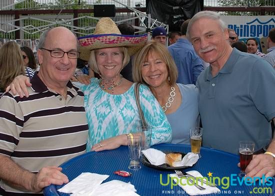
<svg viewBox="0 0 275 196"><path fill-rule="evenodd" d="M134 186L122 181L106 180L108 175L82 173L57 191L70 196L138 196Z"/></svg>

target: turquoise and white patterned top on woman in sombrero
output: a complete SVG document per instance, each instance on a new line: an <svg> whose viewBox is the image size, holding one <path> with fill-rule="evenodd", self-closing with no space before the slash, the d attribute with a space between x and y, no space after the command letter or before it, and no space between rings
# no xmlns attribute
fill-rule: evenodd
<svg viewBox="0 0 275 196"><path fill-rule="evenodd" d="M134 96L134 84L120 95L112 95L102 90L97 78L91 78L89 85L74 84L84 92L89 126L87 151L101 140L137 132L141 120ZM144 118L153 128L151 145L171 142L170 124L148 87L139 86L139 99Z"/></svg>

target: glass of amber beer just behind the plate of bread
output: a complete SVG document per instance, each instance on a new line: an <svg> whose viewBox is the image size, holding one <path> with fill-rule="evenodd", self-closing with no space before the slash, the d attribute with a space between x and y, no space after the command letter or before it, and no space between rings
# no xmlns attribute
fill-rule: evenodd
<svg viewBox="0 0 275 196"><path fill-rule="evenodd" d="M190 143L191 143L191 152L194 154L198 154L200 156L200 146L201 146L201 138L202 138L202 128L201 127L193 127L190 129Z"/></svg>

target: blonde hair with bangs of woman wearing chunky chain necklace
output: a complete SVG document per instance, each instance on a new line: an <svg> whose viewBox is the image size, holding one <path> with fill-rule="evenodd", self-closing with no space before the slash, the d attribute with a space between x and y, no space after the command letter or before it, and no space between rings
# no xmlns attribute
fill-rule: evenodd
<svg viewBox="0 0 275 196"><path fill-rule="evenodd" d="M177 78L177 68L174 63L172 56L170 55L168 49L156 42L149 41L143 48L141 48L134 56L133 68L132 68L132 78L134 82L141 82L149 86L142 78L141 67L144 62L148 60L149 53L155 53L159 55L160 59L166 64L168 70L168 77L170 78L169 85L174 85Z"/></svg>

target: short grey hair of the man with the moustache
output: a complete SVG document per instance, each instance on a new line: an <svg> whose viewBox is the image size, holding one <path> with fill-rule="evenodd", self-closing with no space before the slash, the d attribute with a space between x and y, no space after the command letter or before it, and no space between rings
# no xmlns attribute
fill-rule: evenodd
<svg viewBox="0 0 275 196"><path fill-rule="evenodd" d="M225 22L220 19L220 16L217 12L214 12L214 11L200 11L200 12L196 13L189 21L187 31L186 31L187 39L189 39L189 40L191 39L190 29L191 29L193 23L195 21L197 21L198 19L200 19L200 18L209 18L209 19L217 20L222 31L227 29L227 26L226 26Z"/></svg>

